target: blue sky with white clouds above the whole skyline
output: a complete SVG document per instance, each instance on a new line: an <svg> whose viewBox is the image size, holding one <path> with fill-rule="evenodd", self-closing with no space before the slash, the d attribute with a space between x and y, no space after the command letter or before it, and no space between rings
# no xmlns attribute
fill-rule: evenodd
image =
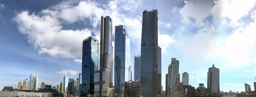
<svg viewBox="0 0 256 97"><path fill-rule="evenodd" d="M158 9L162 86L171 58L189 85L207 86L208 68L220 69L220 90L245 91L256 82L256 0L1 0L0 89L29 79L57 86L81 72L82 40L100 40L100 17L126 26L131 70L140 55L142 12ZM114 47L113 27L113 47Z"/></svg>

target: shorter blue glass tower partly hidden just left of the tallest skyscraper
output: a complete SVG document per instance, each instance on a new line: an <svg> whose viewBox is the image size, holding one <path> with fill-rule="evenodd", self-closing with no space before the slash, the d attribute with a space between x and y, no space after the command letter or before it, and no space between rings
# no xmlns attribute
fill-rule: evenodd
<svg viewBox="0 0 256 97"><path fill-rule="evenodd" d="M134 56L134 81L140 80L140 55Z"/></svg>

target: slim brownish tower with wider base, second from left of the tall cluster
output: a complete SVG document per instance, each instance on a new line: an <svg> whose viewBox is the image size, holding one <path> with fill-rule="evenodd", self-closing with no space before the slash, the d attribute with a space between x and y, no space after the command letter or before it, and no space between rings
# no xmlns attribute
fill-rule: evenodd
<svg viewBox="0 0 256 97"><path fill-rule="evenodd" d="M101 17L99 55L100 65L99 70L95 71L94 75L94 92L96 96L109 97L112 96L113 91L112 19L109 16Z"/></svg>

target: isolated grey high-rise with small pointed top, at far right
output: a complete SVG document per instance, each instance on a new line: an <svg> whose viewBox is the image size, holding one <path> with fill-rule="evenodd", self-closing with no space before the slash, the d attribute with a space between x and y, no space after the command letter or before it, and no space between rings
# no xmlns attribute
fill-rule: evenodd
<svg viewBox="0 0 256 97"><path fill-rule="evenodd" d="M212 95L218 95L220 92L220 69L214 67L214 64L207 73L207 89Z"/></svg>

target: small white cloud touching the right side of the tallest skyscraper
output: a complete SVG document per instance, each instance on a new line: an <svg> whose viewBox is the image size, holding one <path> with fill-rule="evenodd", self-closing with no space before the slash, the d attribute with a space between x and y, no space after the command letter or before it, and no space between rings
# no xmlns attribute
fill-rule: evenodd
<svg viewBox="0 0 256 97"><path fill-rule="evenodd" d="M158 34L158 46L162 48L162 53L165 53L166 48L169 47L169 44L174 42L171 36L167 34Z"/></svg>

